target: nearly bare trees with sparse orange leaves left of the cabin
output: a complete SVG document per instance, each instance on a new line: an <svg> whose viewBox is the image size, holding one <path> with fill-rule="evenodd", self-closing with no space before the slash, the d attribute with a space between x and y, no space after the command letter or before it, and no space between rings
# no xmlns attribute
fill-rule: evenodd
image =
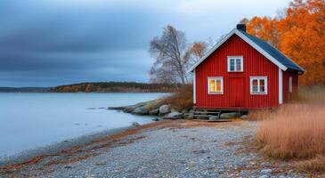
<svg viewBox="0 0 325 178"><path fill-rule="evenodd" d="M206 43L195 42L189 45L182 31L168 25L161 36L154 37L150 42L150 54L156 58L150 69L150 82L189 83L191 74L187 70L206 50Z"/></svg>

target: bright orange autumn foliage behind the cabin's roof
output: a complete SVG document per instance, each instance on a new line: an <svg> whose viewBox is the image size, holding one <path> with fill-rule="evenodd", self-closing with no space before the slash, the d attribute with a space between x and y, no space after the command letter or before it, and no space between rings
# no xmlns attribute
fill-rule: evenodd
<svg viewBox="0 0 325 178"><path fill-rule="evenodd" d="M248 33L268 41L306 69L301 84L325 83L325 2L295 0L281 18L253 17Z"/></svg>

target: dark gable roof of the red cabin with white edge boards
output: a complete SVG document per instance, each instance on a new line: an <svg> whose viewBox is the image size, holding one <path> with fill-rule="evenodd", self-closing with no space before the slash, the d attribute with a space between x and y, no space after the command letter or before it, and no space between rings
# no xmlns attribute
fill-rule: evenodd
<svg viewBox="0 0 325 178"><path fill-rule="evenodd" d="M285 56L283 53L280 53L280 51L274 48L271 44L268 44L267 42L259 39L256 36L251 36L248 33L241 31L237 28L232 29L232 31L227 36L223 37L223 39L218 44L215 44L215 46L205 56L203 56L199 61L197 61L188 71L192 72L194 69L196 69L202 61L206 60L211 53L214 53L216 49L218 49L234 34L240 36L241 39L243 39L245 42L254 47L256 51L262 53L268 60L272 61L272 63L274 63L280 69L284 71L286 71L287 69L292 69L298 71L299 73L305 72L305 69L301 68L294 61L288 59L287 56Z"/></svg>

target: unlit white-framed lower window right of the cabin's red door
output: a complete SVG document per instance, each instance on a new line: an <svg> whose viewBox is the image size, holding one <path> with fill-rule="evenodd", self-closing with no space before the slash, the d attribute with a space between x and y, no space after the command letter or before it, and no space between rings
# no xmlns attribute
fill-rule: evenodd
<svg viewBox="0 0 325 178"><path fill-rule="evenodd" d="M267 94L267 77L250 77L251 94Z"/></svg>

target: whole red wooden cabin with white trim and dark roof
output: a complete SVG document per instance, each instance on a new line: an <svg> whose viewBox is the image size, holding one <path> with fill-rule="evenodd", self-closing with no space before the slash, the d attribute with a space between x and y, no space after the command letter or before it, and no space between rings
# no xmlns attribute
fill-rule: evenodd
<svg viewBox="0 0 325 178"><path fill-rule="evenodd" d="M273 108L297 93L305 72L267 42L237 25L193 72L193 101L199 109Z"/></svg>

